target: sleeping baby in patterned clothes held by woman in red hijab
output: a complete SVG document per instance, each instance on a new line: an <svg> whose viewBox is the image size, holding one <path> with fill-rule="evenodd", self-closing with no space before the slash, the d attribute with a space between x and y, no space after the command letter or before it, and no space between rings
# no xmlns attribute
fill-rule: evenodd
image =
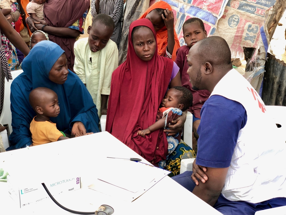
<svg viewBox="0 0 286 215"><path fill-rule="evenodd" d="M185 87L172 87L169 89L157 112L156 122L148 128L138 131L137 135L145 137L158 129L168 129L168 125L182 115L183 111L192 106L193 96L190 90ZM168 135L168 133L166 133ZM170 155L181 141L182 131L173 136L167 136L168 155ZM167 159L168 160L168 155ZM166 167L166 160L159 161L160 168Z"/></svg>

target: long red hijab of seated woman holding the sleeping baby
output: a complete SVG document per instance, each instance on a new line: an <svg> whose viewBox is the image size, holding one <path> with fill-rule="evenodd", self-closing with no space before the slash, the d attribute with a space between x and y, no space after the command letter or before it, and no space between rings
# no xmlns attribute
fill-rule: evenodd
<svg viewBox="0 0 286 215"><path fill-rule="evenodd" d="M131 38L132 30L136 26L150 28L156 40L151 21L139 19L131 23L126 61L112 73L106 131L146 160L154 160L157 163L166 159L168 151L163 129L154 131L145 138L137 135L137 132L155 123L157 110L170 82L174 62L159 56L157 46L150 61L140 59L136 55ZM159 149L156 149L157 146Z"/></svg>

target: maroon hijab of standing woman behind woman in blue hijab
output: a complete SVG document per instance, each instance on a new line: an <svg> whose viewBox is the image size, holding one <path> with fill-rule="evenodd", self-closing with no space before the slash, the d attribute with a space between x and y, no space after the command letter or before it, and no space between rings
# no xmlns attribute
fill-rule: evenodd
<svg viewBox="0 0 286 215"><path fill-rule="evenodd" d="M67 28L78 21L90 7L90 0L47 0L44 16L48 26ZM69 70L74 71L74 43L76 38L58 37L49 34L49 39L58 44L67 57Z"/></svg>

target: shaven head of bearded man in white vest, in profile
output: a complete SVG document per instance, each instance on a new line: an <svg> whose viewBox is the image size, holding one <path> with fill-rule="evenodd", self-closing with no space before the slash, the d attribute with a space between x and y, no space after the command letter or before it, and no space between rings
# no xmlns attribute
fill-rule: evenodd
<svg viewBox="0 0 286 215"><path fill-rule="evenodd" d="M217 36L196 42L187 58L188 75L194 90L212 92L215 85L232 69L231 51L227 42Z"/></svg>

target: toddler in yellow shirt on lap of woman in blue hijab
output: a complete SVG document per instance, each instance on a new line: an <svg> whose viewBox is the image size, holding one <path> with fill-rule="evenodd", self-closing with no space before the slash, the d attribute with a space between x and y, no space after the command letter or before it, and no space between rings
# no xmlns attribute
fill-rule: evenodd
<svg viewBox="0 0 286 215"><path fill-rule="evenodd" d="M59 115L59 101L53 90L46 87L35 88L29 95L29 102L37 114L30 124L34 146L69 139L50 121L50 117Z"/></svg>

